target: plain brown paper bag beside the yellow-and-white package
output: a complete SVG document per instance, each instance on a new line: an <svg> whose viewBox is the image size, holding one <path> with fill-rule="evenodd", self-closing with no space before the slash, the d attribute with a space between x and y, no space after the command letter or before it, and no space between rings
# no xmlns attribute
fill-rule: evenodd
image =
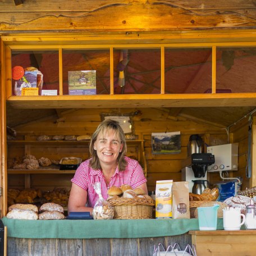
<svg viewBox="0 0 256 256"><path fill-rule="evenodd" d="M188 181L172 184L172 218L190 218Z"/></svg>

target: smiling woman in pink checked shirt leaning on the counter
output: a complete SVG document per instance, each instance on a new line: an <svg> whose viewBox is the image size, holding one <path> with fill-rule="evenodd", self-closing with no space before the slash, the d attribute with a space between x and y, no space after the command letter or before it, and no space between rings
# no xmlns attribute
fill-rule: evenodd
<svg viewBox="0 0 256 256"><path fill-rule="evenodd" d="M130 185L132 189L141 188L148 193L147 179L138 161L126 157L125 133L119 122L106 119L97 127L89 146L92 158L77 168L72 181L68 212L90 212L99 195L94 184L100 182L105 200L112 186Z"/></svg>

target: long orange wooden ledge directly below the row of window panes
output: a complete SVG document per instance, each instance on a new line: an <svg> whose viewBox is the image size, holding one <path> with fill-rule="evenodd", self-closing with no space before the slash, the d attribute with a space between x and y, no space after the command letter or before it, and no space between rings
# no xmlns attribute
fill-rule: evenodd
<svg viewBox="0 0 256 256"><path fill-rule="evenodd" d="M239 107L254 106L256 93L11 96L15 108Z"/></svg>

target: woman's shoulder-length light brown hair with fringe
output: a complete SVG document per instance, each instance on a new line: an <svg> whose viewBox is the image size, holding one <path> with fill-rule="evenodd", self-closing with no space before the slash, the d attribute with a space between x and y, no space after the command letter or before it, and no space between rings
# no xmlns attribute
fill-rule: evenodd
<svg viewBox="0 0 256 256"><path fill-rule="evenodd" d="M89 146L89 152L92 155L92 159L90 160L90 166L95 170L99 170L99 169L101 170L102 167L100 166L99 158L97 156L97 151L94 149L94 143L100 134L105 135L109 131L114 131L115 136L119 137L119 139L121 140L121 143L124 144L122 151L119 153L119 156L117 157L118 169L119 171L124 171L127 164L125 160L125 154L127 151L125 134L120 124L117 121L111 120L111 119L106 119L102 121L92 135L92 139L90 141L90 146Z"/></svg>

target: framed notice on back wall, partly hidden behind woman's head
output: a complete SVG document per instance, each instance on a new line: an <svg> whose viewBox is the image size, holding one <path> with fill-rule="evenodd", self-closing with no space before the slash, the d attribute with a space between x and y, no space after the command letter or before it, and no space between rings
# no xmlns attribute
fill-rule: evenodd
<svg viewBox="0 0 256 256"><path fill-rule="evenodd" d="M100 114L102 121L106 119L111 119L119 122L125 134L135 135L134 125L132 123L132 117L125 114L116 113L102 113Z"/></svg>

